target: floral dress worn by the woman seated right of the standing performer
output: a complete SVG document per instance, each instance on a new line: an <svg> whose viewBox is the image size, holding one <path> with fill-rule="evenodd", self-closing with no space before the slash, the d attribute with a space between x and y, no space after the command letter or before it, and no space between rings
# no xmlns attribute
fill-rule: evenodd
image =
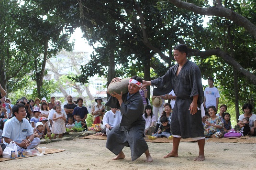
<svg viewBox="0 0 256 170"><path fill-rule="evenodd" d="M222 120L222 117L217 117L215 120L211 120L211 117L208 118L206 121L211 122L211 124L214 125L220 125L222 128L216 128L213 126L204 125L204 135L205 137L211 137L211 135L215 135L216 138L222 138L223 137L223 127L224 123Z"/></svg>

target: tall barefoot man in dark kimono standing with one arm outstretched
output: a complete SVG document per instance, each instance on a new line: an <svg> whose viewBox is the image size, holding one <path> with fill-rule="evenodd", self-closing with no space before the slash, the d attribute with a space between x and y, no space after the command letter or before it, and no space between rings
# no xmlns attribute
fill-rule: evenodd
<svg viewBox="0 0 256 170"><path fill-rule="evenodd" d="M180 138L194 138L199 145L199 156L194 160L202 161L205 159L205 137L199 110L204 100L201 72L196 64L187 60L188 48L185 44L174 47L173 54L178 64L162 77L143 81L143 87L155 85L157 88L154 89L154 96L165 95L173 88L177 96L171 119L173 148L164 158L178 157Z"/></svg>

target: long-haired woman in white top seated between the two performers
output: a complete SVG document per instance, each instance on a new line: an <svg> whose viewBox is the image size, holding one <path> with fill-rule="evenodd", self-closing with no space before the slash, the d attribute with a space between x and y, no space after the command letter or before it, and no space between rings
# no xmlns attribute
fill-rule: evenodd
<svg viewBox="0 0 256 170"><path fill-rule="evenodd" d="M145 111L142 117L145 119L145 134L148 131L148 127L154 127L156 122L156 117L153 114L152 107L150 105L145 106ZM150 134L151 135L151 134Z"/></svg>

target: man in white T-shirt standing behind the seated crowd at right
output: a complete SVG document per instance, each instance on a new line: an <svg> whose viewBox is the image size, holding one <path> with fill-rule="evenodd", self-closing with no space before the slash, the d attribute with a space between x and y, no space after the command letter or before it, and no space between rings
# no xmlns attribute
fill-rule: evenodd
<svg viewBox="0 0 256 170"><path fill-rule="evenodd" d="M203 105L208 108L210 106L215 106L218 110L219 105L219 97L220 93L219 90L213 86L213 78L208 78L208 85L209 87L206 87L204 90L204 102Z"/></svg>

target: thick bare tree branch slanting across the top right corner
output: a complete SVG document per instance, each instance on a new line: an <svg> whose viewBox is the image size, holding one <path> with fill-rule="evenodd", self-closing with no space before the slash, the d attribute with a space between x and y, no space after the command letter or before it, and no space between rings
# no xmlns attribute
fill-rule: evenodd
<svg viewBox="0 0 256 170"><path fill-rule="evenodd" d="M252 22L247 20L242 15L239 15L238 13L230 9L226 9L222 5L220 6L220 4L218 4L218 6L216 7L202 8L192 3L183 2L181 0L169 0L169 1L178 8L189 10L196 14L208 15L208 16L213 15L213 16L219 16L219 17L224 17L226 19L229 19L234 23L244 27L256 39L256 26ZM219 3L219 0L218 0L218 3Z"/></svg>

